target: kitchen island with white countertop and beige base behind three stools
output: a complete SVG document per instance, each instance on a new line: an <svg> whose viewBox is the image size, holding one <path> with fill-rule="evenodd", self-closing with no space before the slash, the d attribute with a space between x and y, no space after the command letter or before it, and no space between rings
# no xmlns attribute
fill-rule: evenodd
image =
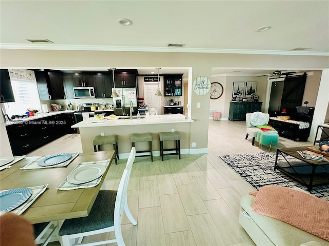
<svg viewBox="0 0 329 246"><path fill-rule="evenodd" d="M157 115L156 117L96 119L88 118L75 124L72 128L79 128L83 152L94 151L93 139L97 135L118 135L119 158L127 158L131 150L130 135L132 133L152 133L153 155L160 156L159 132L177 131L181 135L180 148L182 154L190 152L191 123L193 119L182 114ZM166 142L173 145L173 141ZM146 142L136 145L138 150L148 149ZM112 145L102 146L102 150L111 150Z"/></svg>

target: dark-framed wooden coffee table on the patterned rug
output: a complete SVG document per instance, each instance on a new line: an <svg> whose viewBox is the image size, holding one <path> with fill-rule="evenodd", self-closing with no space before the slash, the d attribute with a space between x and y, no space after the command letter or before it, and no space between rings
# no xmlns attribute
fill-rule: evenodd
<svg viewBox="0 0 329 246"><path fill-rule="evenodd" d="M301 157L297 151L306 150L305 147L294 147L294 148L280 148L277 149L276 162L274 166L274 170L279 170L285 175L293 178L297 182L307 187L307 190L312 190L315 186L323 186L329 184L329 173L317 173L317 168L320 166L329 165L328 161L316 161L316 160L308 160ZM285 159L285 165L280 165L281 162L278 163L278 157L281 155ZM293 161L288 160L287 156L293 156L297 160ZM308 167L312 169L310 173L300 173L296 170L296 161L298 163L298 167Z"/></svg>

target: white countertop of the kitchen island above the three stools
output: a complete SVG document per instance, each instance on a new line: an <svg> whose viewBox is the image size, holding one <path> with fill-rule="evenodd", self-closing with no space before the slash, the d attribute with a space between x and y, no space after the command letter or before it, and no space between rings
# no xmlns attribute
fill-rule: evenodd
<svg viewBox="0 0 329 246"><path fill-rule="evenodd" d="M156 118L133 118L133 119L96 119L87 118L72 128L83 127L114 127L114 126L133 126L133 125L153 125L153 124L168 124L168 123L187 123L194 122L193 119L187 118L182 114L162 114Z"/></svg>

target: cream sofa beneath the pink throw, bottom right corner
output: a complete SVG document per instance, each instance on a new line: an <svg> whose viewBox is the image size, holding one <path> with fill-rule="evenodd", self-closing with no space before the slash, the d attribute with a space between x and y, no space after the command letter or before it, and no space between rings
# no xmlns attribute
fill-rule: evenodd
<svg viewBox="0 0 329 246"><path fill-rule="evenodd" d="M293 188L295 190L303 190ZM240 202L239 222L259 246L325 246L329 242L280 220L252 211L253 195L245 195Z"/></svg>

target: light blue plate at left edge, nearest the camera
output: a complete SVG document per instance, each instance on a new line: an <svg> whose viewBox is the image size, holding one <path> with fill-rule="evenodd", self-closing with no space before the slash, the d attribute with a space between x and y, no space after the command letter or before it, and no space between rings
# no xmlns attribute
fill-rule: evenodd
<svg viewBox="0 0 329 246"><path fill-rule="evenodd" d="M31 195L31 188L17 188L0 193L0 211L9 212L21 206Z"/></svg>

